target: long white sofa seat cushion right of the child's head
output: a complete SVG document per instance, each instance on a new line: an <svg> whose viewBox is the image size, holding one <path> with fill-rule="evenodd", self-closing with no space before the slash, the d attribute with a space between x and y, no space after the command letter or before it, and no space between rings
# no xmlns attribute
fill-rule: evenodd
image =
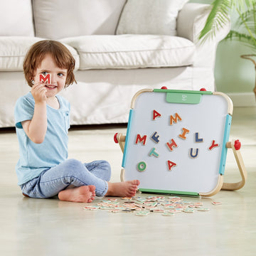
<svg viewBox="0 0 256 256"><path fill-rule="evenodd" d="M80 70L178 67L193 64L195 53L191 41L176 36L81 36L60 41L78 51Z"/></svg>

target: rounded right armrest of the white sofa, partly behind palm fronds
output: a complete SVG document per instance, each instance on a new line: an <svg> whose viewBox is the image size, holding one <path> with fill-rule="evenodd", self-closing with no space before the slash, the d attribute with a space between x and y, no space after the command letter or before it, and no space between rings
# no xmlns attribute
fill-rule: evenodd
<svg viewBox="0 0 256 256"><path fill-rule="evenodd" d="M210 4L185 4L183 9L179 12L177 17L177 36L187 38L193 43L198 43L198 37L206 24L206 19L210 14ZM223 40L230 31L230 23L216 31L213 38L215 43Z"/></svg>

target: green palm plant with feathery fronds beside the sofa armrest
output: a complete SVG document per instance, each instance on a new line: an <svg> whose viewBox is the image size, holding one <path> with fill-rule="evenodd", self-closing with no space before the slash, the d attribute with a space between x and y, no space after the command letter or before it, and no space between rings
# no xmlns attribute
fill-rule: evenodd
<svg viewBox="0 0 256 256"><path fill-rule="evenodd" d="M201 31L200 39L206 40L214 36L215 31L229 21L230 12L235 10L238 13L238 20L235 29L228 33L225 40L240 41L252 50L252 54L241 55L241 58L251 60L256 71L256 1L255 0L215 0L211 4L212 9ZM256 78L253 89L256 97Z"/></svg>

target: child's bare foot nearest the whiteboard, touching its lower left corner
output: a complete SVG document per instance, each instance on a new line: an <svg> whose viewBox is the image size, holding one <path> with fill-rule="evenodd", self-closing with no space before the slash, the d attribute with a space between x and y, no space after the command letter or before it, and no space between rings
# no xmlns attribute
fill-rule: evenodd
<svg viewBox="0 0 256 256"><path fill-rule="evenodd" d="M135 196L139 186L138 180L111 183L108 182L108 190L105 196Z"/></svg>

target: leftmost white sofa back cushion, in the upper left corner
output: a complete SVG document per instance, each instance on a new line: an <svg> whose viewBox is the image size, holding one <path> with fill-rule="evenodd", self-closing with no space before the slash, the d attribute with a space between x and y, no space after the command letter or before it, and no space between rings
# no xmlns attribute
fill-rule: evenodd
<svg viewBox="0 0 256 256"><path fill-rule="evenodd" d="M31 0L0 3L0 36L34 36Z"/></svg>

